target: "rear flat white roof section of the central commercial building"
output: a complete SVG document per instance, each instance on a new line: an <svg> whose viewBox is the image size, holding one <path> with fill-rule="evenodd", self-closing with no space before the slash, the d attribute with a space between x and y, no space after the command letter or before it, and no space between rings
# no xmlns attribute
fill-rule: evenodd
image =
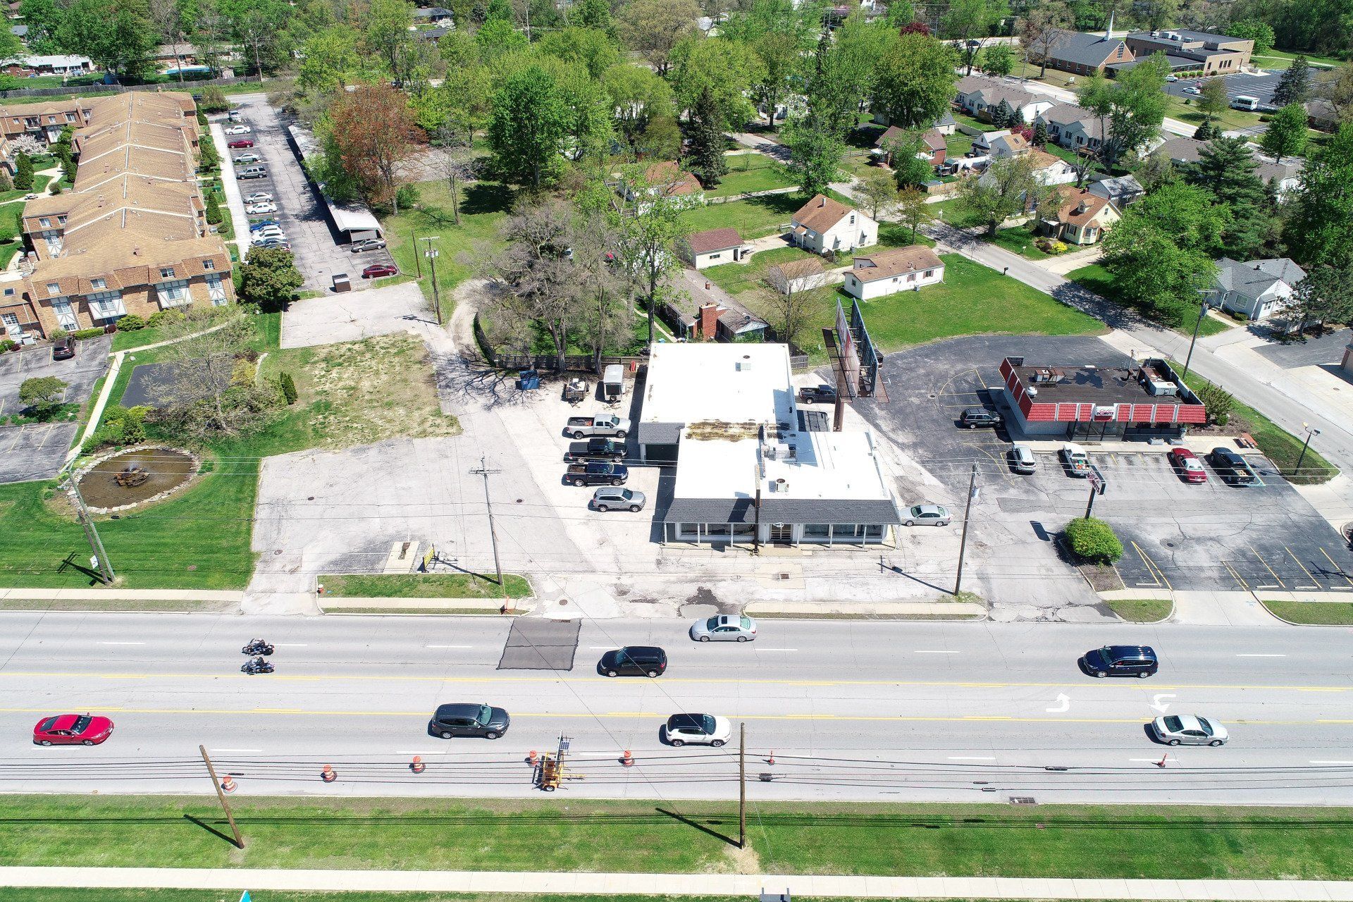
<svg viewBox="0 0 1353 902"><path fill-rule="evenodd" d="M717 431L718 423L793 429L792 373L787 345L653 345L640 422L705 423L708 433ZM755 429L750 437L756 437Z"/></svg>

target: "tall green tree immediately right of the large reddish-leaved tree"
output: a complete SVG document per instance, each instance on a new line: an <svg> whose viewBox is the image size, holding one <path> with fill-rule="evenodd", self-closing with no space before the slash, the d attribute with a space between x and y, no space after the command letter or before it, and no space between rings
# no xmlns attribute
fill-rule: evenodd
<svg viewBox="0 0 1353 902"><path fill-rule="evenodd" d="M538 189L563 170L559 156L571 111L555 76L530 64L507 76L494 95L488 147L499 179Z"/></svg>

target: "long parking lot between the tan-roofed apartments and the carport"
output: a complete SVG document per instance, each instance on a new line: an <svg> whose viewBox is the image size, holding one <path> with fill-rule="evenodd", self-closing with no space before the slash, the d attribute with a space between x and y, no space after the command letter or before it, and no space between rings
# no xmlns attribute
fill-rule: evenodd
<svg viewBox="0 0 1353 902"><path fill-rule="evenodd" d="M229 150L229 160L233 161L241 154L257 154L260 162L253 165L265 166L268 174L264 179L235 180L235 185L244 196L254 192L271 193L273 203L277 204L276 214L250 216L250 220L277 220L296 257L296 268L306 279L304 289L329 291L337 273L346 273L354 291L371 287L373 280L363 279L361 270L372 264L394 262L390 253L386 249L352 253L346 237L333 227L323 200L306 177L288 139L287 123L277 110L261 95L244 95L237 97L237 103L239 123L249 126L252 131L244 135L226 135L226 139L249 138L254 146ZM221 124L229 127L234 123ZM233 166L233 162L223 164L227 181L234 180ZM229 185L226 191L230 191ZM238 231L248 242L242 224Z"/></svg>

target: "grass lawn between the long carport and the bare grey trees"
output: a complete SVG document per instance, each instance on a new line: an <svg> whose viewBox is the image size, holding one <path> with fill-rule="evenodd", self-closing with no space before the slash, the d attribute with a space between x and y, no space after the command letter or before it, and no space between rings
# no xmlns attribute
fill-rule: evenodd
<svg viewBox="0 0 1353 902"><path fill-rule="evenodd" d="M406 276L418 276L421 272L418 287L429 302L433 295L432 266L423 252L429 246L440 252L437 288L441 292L442 318L449 318L455 307L451 292L471 275L469 266L461 262L460 256L471 252L478 243L502 246L498 229L507 219L514 195L510 188L491 183L471 185L461 191L457 226L451 210L451 189L445 181L419 181L414 187L418 189L418 206L386 216L382 219L382 226L386 230L390 253L399 264L399 272ZM417 247L414 247L415 237L419 239ZM422 238L433 241L429 243Z"/></svg>

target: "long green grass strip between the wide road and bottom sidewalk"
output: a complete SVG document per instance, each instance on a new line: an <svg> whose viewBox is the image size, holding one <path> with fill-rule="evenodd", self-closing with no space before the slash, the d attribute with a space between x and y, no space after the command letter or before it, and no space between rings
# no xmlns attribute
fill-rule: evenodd
<svg viewBox="0 0 1353 902"><path fill-rule="evenodd" d="M1353 878L1353 809L1337 807L752 802L751 848L739 852L732 803L237 795L231 805L244 851L218 833L229 828L211 798L0 797L0 848L11 865Z"/></svg>

